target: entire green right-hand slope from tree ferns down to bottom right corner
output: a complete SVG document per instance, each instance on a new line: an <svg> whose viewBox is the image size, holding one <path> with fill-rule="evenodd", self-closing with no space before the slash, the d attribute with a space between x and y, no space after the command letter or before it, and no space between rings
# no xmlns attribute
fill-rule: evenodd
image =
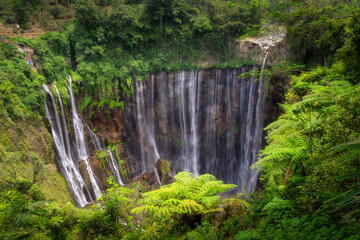
<svg viewBox="0 0 360 240"><path fill-rule="evenodd" d="M254 166L265 188L251 200L257 223L236 239L359 237L360 86L343 71L336 64L292 77L284 113L266 128L268 145Z"/></svg>

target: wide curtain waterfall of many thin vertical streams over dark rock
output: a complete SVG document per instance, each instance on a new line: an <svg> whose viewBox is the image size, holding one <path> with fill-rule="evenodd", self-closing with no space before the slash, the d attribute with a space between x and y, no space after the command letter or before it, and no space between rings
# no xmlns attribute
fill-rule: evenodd
<svg viewBox="0 0 360 240"><path fill-rule="evenodd" d="M135 116L130 131L139 142L127 143L130 152L144 170L164 158L175 171L211 173L253 191L257 172L250 166L262 147L264 79L238 76L256 69L149 74L136 81L136 107L127 114Z"/></svg>

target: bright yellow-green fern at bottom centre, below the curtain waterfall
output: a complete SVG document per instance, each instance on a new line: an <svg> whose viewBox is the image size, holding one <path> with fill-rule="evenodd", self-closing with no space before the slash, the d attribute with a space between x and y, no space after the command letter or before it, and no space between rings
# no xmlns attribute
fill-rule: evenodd
<svg viewBox="0 0 360 240"><path fill-rule="evenodd" d="M183 215L191 218L218 211L218 193L235 188L224 184L210 174L195 177L193 173L180 172L175 182L160 189L144 193L143 205L132 210L133 213L148 213L162 216Z"/></svg>

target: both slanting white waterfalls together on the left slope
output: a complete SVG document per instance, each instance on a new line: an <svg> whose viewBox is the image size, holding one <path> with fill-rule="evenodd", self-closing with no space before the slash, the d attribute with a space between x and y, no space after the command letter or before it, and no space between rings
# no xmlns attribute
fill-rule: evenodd
<svg viewBox="0 0 360 240"><path fill-rule="evenodd" d="M84 126L79 118L74 94L71 87L71 77L69 76L69 93L71 101L72 122L74 126L75 144L71 144L69 131L66 122L66 115L60 93L55 85L52 87L56 90L58 103L61 113L61 121L58 116L57 107L53 95L46 85L43 85L47 92L47 101L45 102L46 116L51 124L52 136L57 151L57 166L69 185L75 203L83 207L101 196L100 183L93 173L89 164L89 151L86 141ZM79 171L79 163L84 161L86 165L86 175L88 175L90 185L89 189Z"/></svg>

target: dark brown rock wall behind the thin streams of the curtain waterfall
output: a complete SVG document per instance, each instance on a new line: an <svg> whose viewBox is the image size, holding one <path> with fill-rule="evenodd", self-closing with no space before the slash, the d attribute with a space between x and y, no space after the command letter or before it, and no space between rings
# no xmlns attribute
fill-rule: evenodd
<svg viewBox="0 0 360 240"><path fill-rule="evenodd" d="M254 69L255 67L245 67L243 69L208 69L202 70L201 73L183 71L149 74L147 79L142 80L142 86L134 79L134 95L125 103L125 111L116 107L109 109L108 106L103 106L99 110L95 109L90 125L106 144L123 144L118 145L118 150L126 172L125 183L136 179L136 181L159 185L157 182L161 183L163 179L158 165L162 161L160 159L166 159L170 161L172 171L212 173L226 182L236 183L251 190L244 183L244 179L247 178L250 181L251 174L248 167L256 159L257 150L254 152L245 150L244 146L251 148L255 144L253 142L255 140L247 141L246 138L250 139L250 135L254 134L256 124L254 122L246 127L245 122L257 119L254 114L257 111L257 102L259 102L257 99L259 81L254 81L255 79L250 77L237 78L237 76ZM181 74L184 78L179 80ZM199 79L199 74L201 74L201 79ZM191 76L197 76L196 81L191 80L193 83L187 79ZM179 85L179 81L183 81L183 88ZM251 85L253 85L253 90L251 90ZM265 85L263 123L266 126L280 114L278 103L284 99L286 81L274 78L269 79ZM194 91L190 90L192 86L195 87ZM143 88L142 98L137 95L140 88ZM183 94L179 95L181 91ZM191 97L191 94L198 96ZM184 98L180 99L181 96ZM191 101L197 101L198 106L191 109ZM241 102L247 105L240 106ZM144 104L142 109L144 112L139 112L139 103ZM253 110L249 110L250 108ZM191 129L191 122L194 119L190 116L190 112L193 110L199 116L196 120L198 122L196 127L198 139L195 140L197 143L192 142L194 129ZM140 116L146 118L146 121L139 119ZM182 125L184 123L187 126ZM152 129L145 128L151 125ZM152 136L149 135L150 132ZM247 137L245 137L246 132L249 135ZM260 138L264 139L265 133L261 130L260 135ZM157 153L155 153L154 144L148 142L151 138L156 145ZM258 148L264 145L261 139ZM192 147L193 144L197 144L196 149ZM90 142L89 145L91 145ZM185 145L187 150L184 150ZM186 163L194 157L195 150L197 151L196 169L196 164ZM245 164L247 170L244 170L239 163L244 161L243 155L246 151L246 154L250 154L248 156L250 162ZM110 173L106 172L106 168L99 167L98 161L92 158L90 164L95 168L96 175L106 178ZM241 171L248 175L242 180L236 173ZM106 183L103 180L101 182L106 187Z"/></svg>

